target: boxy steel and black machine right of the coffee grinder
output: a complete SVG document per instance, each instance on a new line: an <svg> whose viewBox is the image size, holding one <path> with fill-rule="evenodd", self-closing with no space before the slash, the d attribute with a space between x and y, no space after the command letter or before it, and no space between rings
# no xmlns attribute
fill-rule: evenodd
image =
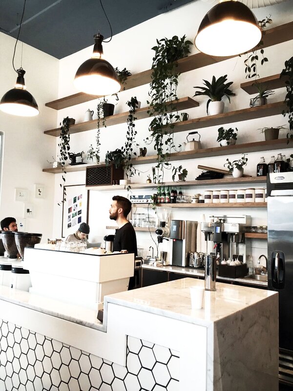
<svg viewBox="0 0 293 391"><path fill-rule="evenodd" d="M196 251L197 221L171 220L171 264L189 266L189 253Z"/></svg>

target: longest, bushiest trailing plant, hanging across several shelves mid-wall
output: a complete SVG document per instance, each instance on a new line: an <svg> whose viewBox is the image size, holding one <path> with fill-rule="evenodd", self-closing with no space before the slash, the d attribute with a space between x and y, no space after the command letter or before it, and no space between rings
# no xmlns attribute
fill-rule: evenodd
<svg viewBox="0 0 293 391"><path fill-rule="evenodd" d="M173 141L173 121L176 119L176 101L178 77L180 73L177 70L177 60L187 57L190 41L186 41L186 36L172 39L163 38L157 40L157 45L152 47L155 54L152 63L152 75L150 83L149 96L147 101L150 106L147 111L153 120L149 125L149 137L146 143L154 143L154 149L157 152L157 165L154 181L164 181L164 170L170 169L169 156L171 150L176 151ZM180 147L180 146L179 146Z"/></svg>

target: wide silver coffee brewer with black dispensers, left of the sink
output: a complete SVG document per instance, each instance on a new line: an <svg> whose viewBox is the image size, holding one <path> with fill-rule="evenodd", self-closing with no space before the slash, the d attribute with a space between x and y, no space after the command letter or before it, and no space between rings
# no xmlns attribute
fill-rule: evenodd
<svg viewBox="0 0 293 391"><path fill-rule="evenodd" d="M210 216L210 222L201 223L201 231L205 234L207 254L217 255L220 260L247 262L251 255L251 242L245 238L246 227L251 225L251 217L240 216Z"/></svg>

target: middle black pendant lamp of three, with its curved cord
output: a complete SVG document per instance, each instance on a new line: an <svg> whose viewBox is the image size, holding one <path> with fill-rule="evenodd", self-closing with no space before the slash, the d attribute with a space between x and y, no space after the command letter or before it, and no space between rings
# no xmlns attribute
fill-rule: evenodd
<svg viewBox="0 0 293 391"><path fill-rule="evenodd" d="M105 13L105 9L100 0L101 6ZM108 20L108 17L105 13ZM109 22L109 20L108 20ZM118 75L113 66L103 58L103 41L110 42L112 39L112 28L111 38L109 41L104 41L103 35L100 33L94 35L95 44L93 55L90 59L86 60L77 70L74 78L74 86L82 92L91 95L110 95L118 92L121 88Z"/></svg>

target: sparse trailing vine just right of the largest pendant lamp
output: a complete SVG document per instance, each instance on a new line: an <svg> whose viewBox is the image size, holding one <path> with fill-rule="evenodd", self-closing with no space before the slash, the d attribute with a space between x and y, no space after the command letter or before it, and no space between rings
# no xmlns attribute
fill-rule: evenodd
<svg viewBox="0 0 293 391"><path fill-rule="evenodd" d="M259 64L258 50L260 50L260 55L261 55L260 64L264 65L269 61L268 58L264 56L264 49L262 48L262 46L264 44L263 37L266 34L265 29L267 27L267 24L272 23L272 19L270 18L271 15L267 16L265 19L262 19L261 21L257 21L259 28L261 29L262 38L259 41L259 43L252 49L251 54L247 52L244 53L247 55L246 60L244 60L246 79L252 79L252 78L256 79L257 77L259 77L257 73L257 65Z"/></svg>

